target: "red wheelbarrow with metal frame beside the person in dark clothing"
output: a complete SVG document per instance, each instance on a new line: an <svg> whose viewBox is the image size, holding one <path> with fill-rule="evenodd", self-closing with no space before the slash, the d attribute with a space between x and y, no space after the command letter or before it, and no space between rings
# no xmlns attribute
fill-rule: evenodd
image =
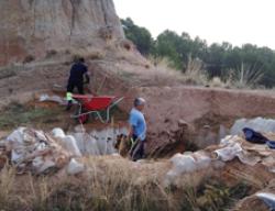
<svg viewBox="0 0 275 211"><path fill-rule="evenodd" d="M88 95L73 95L72 96L78 104L76 113L72 118L79 121L79 123L86 123L89 120L89 115L95 113L102 123L107 123L110 120L110 110L124 97L118 98L113 96L88 96ZM102 118L101 113L106 112L106 118Z"/></svg>

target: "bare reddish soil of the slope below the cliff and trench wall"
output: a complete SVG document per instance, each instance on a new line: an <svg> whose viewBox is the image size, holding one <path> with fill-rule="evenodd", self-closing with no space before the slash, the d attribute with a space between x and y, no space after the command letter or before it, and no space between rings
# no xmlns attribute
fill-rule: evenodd
<svg viewBox="0 0 275 211"><path fill-rule="evenodd" d="M89 91L100 95L123 96L120 104L123 118L117 115L118 123L125 124L127 113L135 97L147 101L145 116L148 127L147 153L154 154L167 147L170 154L186 151L185 143L175 140L178 121L188 123L189 141L199 148L219 141L220 125L229 129L235 119L254 116L275 116L275 95L272 91L249 91L212 89L182 85L177 73L161 70L142 58L135 49L108 49L107 57L88 60L92 75ZM65 96L70 57L31 63L20 67L6 67L1 71L12 71L0 79L0 108L11 102L36 102L41 93L53 92ZM56 92L58 87L58 92ZM41 107L36 102L35 107ZM57 107L56 104L52 104ZM55 121L51 121L55 119ZM35 122L33 123L35 125ZM69 130L75 122L61 109L58 116L48 116L42 127L58 126ZM92 122L86 126L105 126ZM206 127L207 126L207 127ZM163 152L167 154L168 152Z"/></svg>

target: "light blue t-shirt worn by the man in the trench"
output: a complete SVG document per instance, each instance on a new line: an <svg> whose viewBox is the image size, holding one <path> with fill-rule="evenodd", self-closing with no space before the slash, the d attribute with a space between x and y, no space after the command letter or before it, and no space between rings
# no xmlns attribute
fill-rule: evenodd
<svg viewBox="0 0 275 211"><path fill-rule="evenodd" d="M146 122L143 113L133 108L130 112L129 123L133 126L133 134L144 141L146 137Z"/></svg>

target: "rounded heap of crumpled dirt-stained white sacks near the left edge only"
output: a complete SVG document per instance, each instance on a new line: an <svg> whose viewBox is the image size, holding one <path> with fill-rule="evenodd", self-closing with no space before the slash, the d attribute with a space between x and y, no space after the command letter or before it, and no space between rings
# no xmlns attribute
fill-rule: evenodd
<svg viewBox="0 0 275 211"><path fill-rule="evenodd" d="M57 131L59 131L59 136L64 136L61 130ZM70 154L81 156L79 149L75 147L74 137L68 136L64 143ZM7 151L11 151L12 163L21 168L31 166L37 174L51 167L62 168L68 163L70 155L62 148L59 138L33 129L19 127L7 137L6 144Z"/></svg>

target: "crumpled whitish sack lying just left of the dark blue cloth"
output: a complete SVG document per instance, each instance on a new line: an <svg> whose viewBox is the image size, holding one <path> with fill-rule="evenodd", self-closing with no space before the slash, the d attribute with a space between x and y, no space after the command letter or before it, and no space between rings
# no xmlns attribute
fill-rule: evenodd
<svg viewBox="0 0 275 211"><path fill-rule="evenodd" d="M213 153L216 154L217 159L221 159L222 162L229 162L232 160L241 152L241 145L239 143L235 143L223 148L216 149Z"/></svg>

